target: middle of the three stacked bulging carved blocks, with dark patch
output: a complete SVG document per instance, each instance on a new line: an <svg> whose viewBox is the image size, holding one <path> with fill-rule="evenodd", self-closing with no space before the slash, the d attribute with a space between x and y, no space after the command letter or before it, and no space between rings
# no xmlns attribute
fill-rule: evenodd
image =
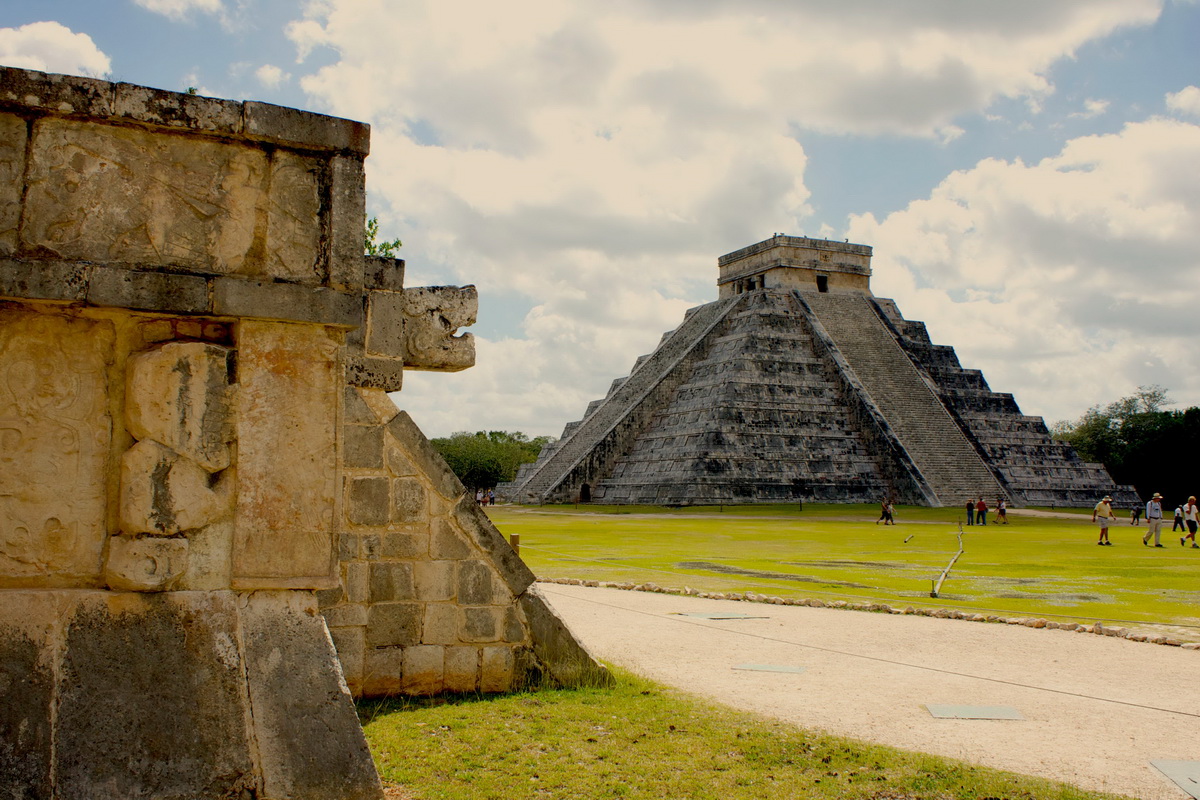
<svg viewBox="0 0 1200 800"><path fill-rule="evenodd" d="M121 456L121 530L170 536L228 518L233 486L232 474L212 482L190 458L139 441Z"/></svg>

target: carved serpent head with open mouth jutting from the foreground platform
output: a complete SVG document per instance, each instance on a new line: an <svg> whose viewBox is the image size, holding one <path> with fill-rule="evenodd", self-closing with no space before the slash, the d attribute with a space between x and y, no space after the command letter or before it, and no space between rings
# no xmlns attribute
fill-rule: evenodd
<svg viewBox="0 0 1200 800"><path fill-rule="evenodd" d="M475 338L470 333L454 333L460 327L475 324L475 314L479 312L479 293L475 287L421 287L406 289L403 297L406 367L455 372L474 366ZM380 331L386 330L382 332L383 337L395 336L394 315L385 314L379 327ZM374 330L372 321L368 348L374 341Z"/></svg>

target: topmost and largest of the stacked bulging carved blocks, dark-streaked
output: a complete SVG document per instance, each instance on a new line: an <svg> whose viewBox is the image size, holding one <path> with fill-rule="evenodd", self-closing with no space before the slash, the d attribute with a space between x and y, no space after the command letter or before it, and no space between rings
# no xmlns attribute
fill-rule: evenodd
<svg viewBox="0 0 1200 800"><path fill-rule="evenodd" d="M130 433L186 456L209 473L229 465L232 350L172 342L130 359L125 416Z"/></svg>

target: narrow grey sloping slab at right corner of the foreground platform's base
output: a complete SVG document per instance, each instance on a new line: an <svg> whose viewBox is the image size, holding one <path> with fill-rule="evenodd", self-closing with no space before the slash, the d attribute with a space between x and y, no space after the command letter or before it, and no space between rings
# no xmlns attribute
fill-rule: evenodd
<svg viewBox="0 0 1200 800"><path fill-rule="evenodd" d="M240 601L263 796L380 800L383 786L316 610L312 596L299 591L256 591Z"/></svg>

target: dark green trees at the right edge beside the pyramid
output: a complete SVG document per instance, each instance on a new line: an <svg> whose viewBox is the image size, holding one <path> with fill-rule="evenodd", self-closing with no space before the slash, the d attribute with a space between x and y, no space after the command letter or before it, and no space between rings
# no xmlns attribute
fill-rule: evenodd
<svg viewBox="0 0 1200 800"><path fill-rule="evenodd" d="M1169 410L1170 402L1164 387L1140 386L1108 405L1093 405L1074 422L1056 422L1050 433L1085 461L1104 464L1117 483L1132 483L1144 500L1162 492L1177 505L1200 494L1193 467L1200 408Z"/></svg>

